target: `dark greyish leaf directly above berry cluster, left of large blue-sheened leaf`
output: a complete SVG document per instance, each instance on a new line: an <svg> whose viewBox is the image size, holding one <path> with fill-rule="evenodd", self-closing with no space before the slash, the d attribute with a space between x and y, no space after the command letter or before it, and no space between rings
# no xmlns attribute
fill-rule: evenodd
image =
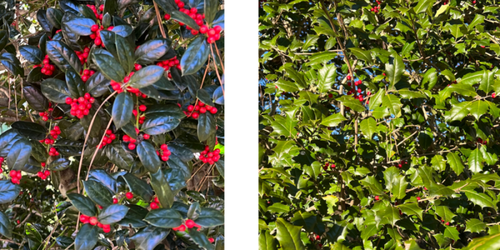
<svg viewBox="0 0 500 250"><path fill-rule="evenodd" d="M135 63L141 65L153 63L167 52L170 44L171 41L168 39L153 39L144 42L135 50ZM192 45L189 45L189 47L190 46Z"/></svg>

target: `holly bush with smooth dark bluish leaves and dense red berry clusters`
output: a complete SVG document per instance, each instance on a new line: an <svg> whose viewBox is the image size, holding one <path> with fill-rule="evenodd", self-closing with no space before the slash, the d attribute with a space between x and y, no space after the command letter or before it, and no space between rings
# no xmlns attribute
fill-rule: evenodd
<svg viewBox="0 0 500 250"><path fill-rule="evenodd" d="M0 10L0 248L223 249L223 1Z"/></svg>

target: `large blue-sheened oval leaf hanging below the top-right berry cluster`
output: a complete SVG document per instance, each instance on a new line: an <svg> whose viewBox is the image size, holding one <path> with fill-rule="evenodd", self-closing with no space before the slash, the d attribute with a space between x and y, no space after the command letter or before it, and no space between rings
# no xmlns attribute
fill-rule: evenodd
<svg viewBox="0 0 500 250"><path fill-rule="evenodd" d="M200 35L194 38L180 59L182 75L198 71L208 59L209 51L210 47L205 37Z"/></svg>

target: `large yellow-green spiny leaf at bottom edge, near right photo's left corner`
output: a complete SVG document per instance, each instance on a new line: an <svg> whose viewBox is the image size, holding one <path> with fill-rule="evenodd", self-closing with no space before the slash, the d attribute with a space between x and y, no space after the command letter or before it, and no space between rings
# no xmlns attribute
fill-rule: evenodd
<svg viewBox="0 0 500 250"><path fill-rule="evenodd" d="M276 238L283 250L304 250L304 244L300 240L300 226L294 226L283 218L276 220Z"/></svg>

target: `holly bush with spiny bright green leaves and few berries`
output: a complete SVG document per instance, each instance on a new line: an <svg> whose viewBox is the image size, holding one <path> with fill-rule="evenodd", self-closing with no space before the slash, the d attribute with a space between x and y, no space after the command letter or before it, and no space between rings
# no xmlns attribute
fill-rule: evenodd
<svg viewBox="0 0 500 250"><path fill-rule="evenodd" d="M261 249L498 249L491 0L259 2Z"/></svg>

